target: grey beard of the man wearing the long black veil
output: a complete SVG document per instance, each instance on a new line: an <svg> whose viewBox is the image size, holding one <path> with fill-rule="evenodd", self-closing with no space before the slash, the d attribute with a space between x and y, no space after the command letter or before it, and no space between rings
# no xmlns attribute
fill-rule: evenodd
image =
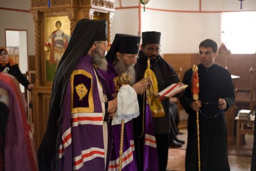
<svg viewBox="0 0 256 171"><path fill-rule="evenodd" d="M96 47L94 51L92 51L92 59L93 64L96 65L100 70L106 71L108 66L108 61L106 61L105 51L100 49L100 47Z"/></svg>

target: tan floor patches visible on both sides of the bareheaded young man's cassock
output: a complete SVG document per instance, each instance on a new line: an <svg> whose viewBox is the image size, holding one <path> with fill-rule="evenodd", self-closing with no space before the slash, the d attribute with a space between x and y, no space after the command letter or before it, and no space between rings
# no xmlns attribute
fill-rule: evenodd
<svg viewBox="0 0 256 171"><path fill-rule="evenodd" d="M185 134L178 135L178 138L186 140L186 130L181 130L181 132L184 132ZM248 140L248 142L249 141L250 139ZM186 152L185 148L186 148L186 144L184 144L181 148L169 148L168 165L167 165L168 171L185 170L185 152ZM251 157L229 155L228 161L229 161L229 166L231 171L249 171L250 170Z"/></svg>

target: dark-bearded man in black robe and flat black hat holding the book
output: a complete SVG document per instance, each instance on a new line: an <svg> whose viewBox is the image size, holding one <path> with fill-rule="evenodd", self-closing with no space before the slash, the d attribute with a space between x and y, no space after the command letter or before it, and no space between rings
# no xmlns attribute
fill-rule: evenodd
<svg viewBox="0 0 256 171"><path fill-rule="evenodd" d="M147 69L147 59L150 58L150 68L155 73L157 79L158 91L162 91L172 83L178 83L179 77L177 76L175 70L170 66L159 54L160 52L160 32L142 32L142 45L139 51L139 59L135 65L135 71L137 79L140 80L144 76L144 72ZM182 86L182 83L179 83ZM182 93L177 94L175 97L182 95ZM138 96L140 114L143 115L150 112L145 109L144 100L145 97ZM172 124L170 124L170 103L169 99L163 99L161 104L164 109L164 116L153 117L154 132L156 137L157 153L160 170L166 170L168 161L168 140L169 132L174 131ZM145 112L143 112L145 111ZM147 125L145 123L145 118L143 115L135 118L135 139L139 138L139 141L143 141L141 134L143 134L144 127ZM175 133L174 133L175 134ZM140 147L141 148L141 147ZM141 153L140 153L141 154ZM143 157L142 157L143 159Z"/></svg>

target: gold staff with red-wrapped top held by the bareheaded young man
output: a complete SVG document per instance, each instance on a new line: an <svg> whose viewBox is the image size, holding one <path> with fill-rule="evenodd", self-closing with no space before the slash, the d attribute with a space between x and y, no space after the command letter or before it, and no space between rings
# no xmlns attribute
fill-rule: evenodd
<svg viewBox="0 0 256 171"><path fill-rule="evenodd" d="M193 99L199 100L199 78L198 78L198 67L193 65L193 75L192 75L192 86L191 91ZM200 160L200 130L199 130L199 111L197 111L197 151L198 151L198 170L201 170L201 160Z"/></svg>

